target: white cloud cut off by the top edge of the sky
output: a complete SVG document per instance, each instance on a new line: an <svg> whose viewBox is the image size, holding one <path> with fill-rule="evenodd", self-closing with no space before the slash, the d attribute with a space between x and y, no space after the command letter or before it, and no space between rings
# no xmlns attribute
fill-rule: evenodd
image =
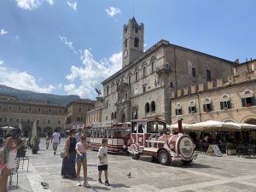
<svg viewBox="0 0 256 192"><path fill-rule="evenodd" d="M50 5L55 3L55 0L16 0L17 6L21 9L37 9L42 3L47 2Z"/></svg>

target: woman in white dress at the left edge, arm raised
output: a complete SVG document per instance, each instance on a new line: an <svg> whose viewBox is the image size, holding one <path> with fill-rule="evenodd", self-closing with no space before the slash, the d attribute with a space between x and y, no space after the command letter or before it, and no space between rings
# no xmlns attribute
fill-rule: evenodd
<svg viewBox="0 0 256 192"><path fill-rule="evenodd" d="M7 181L8 177L10 175L10 172L12 170L12 167L15 163L15 157L17 154L17 150L25 144L25 142L20 143L19 145L15 144L15 139L20 137L21 131L18 128L15 128L11 131L9 131L9 134L7 135L5 147L8 150L8 160L3 167L2 170L2 177L0 178L0 191L1 192L7 192Z"/></svg>

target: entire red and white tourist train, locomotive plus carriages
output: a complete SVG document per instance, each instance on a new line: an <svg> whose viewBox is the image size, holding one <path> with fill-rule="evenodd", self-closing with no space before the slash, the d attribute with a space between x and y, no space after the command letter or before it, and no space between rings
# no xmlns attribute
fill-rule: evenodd
<svg viewBox="0 0 256 192"><path fill-rule="evenodd" d="M88 132L90 148L97 150L102 138L108 139L110 153L126 152L132 159L149 155L169 165L172 160L182 160L189 164L196 158L195 144L191 137L183 134L181 120L178 120L178 134L167 132L166 122L161 119L133 119L131 123L93 125Z"/></svg>

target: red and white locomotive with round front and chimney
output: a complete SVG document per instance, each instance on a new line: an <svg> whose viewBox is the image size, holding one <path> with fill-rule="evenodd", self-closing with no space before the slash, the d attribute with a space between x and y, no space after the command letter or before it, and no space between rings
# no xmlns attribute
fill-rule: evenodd
<svg viewBox="0 0 256 192"><path fill-rule="evenodd" d="M181 125L181 120L178 122ZM192 139L182 130L177 135L166 134L166 122L160 119L132 120L129 145L128 152L135 160L146 154L168 165L172 160L189 164L196 158Z"/></svg>

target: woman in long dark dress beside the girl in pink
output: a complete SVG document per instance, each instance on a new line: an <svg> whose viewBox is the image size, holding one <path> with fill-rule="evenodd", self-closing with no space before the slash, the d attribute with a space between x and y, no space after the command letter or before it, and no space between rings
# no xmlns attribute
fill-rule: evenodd
<svg viewBox="0 0 256 192"><path fill-rule="evenodd" d="M74 137L75 129L70 131L70 137L67 138L65 145L65 157L62 160L61 166L61 176L63 178L67 177L77 177L75 160L76 160L76 144L77 141Z"/></svg>

